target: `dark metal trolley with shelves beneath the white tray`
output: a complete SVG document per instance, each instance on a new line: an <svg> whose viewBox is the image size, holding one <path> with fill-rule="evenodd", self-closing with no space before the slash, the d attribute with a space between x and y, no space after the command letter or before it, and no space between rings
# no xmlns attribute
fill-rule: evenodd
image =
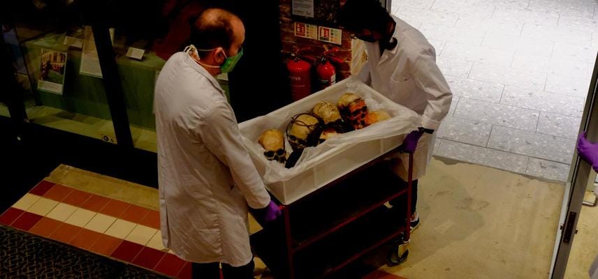
<svg viewBox="0 0 598 279"><path fill-rule="evenodd" d="M282 218L261 224L264 228L251 235L254 254L276 278L290 279L333 276L382 246L390 246L389 253L398 251L395 256L402 262L409 254L413 153L409 153L409 179L405 185L384 160L398 150L371 160L296 202L281 204ZM404 201L399 209L384 206L398 197ZM280 204L275 197L272 199Z"/></svg>

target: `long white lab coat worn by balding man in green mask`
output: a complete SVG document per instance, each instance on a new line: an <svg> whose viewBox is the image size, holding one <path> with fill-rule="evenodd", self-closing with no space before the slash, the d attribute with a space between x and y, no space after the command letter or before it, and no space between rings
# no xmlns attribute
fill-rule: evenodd
<svg viewBox="0 0 598 279"><path fill-rule="evenodd" d="M270 196L224 91L178 52L156 80L154 113L164 246L190 262L247 264L247 204L263 208Z"/></svg>

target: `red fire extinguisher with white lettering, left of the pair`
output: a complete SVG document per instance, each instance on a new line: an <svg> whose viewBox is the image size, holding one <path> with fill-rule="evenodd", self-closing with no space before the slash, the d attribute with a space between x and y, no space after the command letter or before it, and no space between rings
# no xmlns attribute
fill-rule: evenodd
<svg viewBox="0 0 598 279"><path fill-rule="evenodd" d="M312 93L312 64L300 59L300 51L291 54L292 59L289 60L289 63L286 63L286 69L289 70L289 79L291 80L291 98L293 98L293 102Z"/></svg>

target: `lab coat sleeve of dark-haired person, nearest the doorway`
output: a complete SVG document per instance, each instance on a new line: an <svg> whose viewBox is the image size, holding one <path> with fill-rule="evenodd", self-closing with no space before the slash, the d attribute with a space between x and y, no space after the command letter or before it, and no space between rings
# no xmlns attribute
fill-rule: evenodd
<svg viewBox="0 0 598 279"><path fill-rule="evenodd" d="M432 48L423 50L414 63L416 86L425 91L428 101L420 125L423 128L438 130L442 119L449 113L453 93L436 64Z"/></svg>

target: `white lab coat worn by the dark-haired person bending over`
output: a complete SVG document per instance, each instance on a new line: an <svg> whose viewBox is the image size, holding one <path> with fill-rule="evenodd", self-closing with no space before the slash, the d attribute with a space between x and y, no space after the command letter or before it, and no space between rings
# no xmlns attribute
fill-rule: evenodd
<svg viewBox="0 0 598 279"><path fill-rule="evenodd" d="M438 130L449 113L453 94L436 64L436 52L422 33L393 16L393 38L398 44L380 55L378 42L365 43L367 62L358 74L360 80L400 105L421 114L418 126ZM424 133L414 153L414 179L425 174L432 158L435 134ZM407 181L409 155L404 153L393 164L395 173Z"/></svg>

